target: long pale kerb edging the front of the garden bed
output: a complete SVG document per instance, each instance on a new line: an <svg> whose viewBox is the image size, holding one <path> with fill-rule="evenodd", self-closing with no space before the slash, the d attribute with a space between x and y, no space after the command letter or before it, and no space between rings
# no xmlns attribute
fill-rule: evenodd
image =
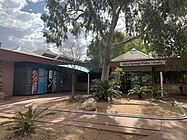
<svg viewBox="0 0 187 140"><path fill-rule="evenodd" d="M187 112L181 106L179 109L183 113L181 116L154 116L154 115L139 115L139 114L117 114L117 113L104 113L104 112L93 112L93 111L83 111L83 110L73 110L73 109L59 109L59 108L47 108L42 107L41 109L48 109L51 111L60 112L70 112L70 113L83 113L89 115L105 115L105 116L115 116L115 117L129 117L129 118L143 118L143 119L153 119L153 120L184 120L187 119Z"/></svg>

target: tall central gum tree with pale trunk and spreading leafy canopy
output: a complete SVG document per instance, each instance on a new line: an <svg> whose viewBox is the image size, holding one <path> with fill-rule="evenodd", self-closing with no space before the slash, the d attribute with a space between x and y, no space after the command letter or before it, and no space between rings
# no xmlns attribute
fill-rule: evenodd
<svg viewBox="0 0 187 140"><path fill-rule="evenodd" d="M102 80L109 77L112 42L120 13L130 13L128 8L136 0L47 0L48 13L42 15L43 21L49 27L44 36L47 41L55 42L60 46L59 40L66 39L66 33L71 31L79 35L81 31L92 32L104 41L104 62ZM127 16L126 16L127 17ZM68 28L72 26L73 28ZM126 27L128 28L128 27ZM128 42L128 41L127 41ZM118 46L118 44L115 44Z"/></svg>

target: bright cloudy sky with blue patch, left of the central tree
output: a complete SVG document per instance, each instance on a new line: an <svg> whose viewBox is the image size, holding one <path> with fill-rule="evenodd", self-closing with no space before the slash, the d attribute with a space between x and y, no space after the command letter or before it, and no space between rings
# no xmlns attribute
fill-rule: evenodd
<svg viewBox="0 0 187 140"><path fill-rule="evenodd" d="M31 51L47 49L42 30L41 15L45 13L45 0L0 0L0 42L1 47L13 49L22 46ZM70 39L74 39L70 35ZM91 39L79 41L83 45Z"/></svg>

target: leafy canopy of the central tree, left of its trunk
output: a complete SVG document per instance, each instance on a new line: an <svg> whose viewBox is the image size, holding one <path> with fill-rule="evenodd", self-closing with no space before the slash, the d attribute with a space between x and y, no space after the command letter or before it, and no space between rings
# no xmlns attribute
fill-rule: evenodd
<svg viewBox="0 0 187 140"><path fill-rule="evenodd" d="M133 1L47 0L48 12L44 13L41 18L49 27L48 35L51 37L57 37L61 33L61 36L66 38L68 31L77 36L83 29L86 33L92 31L103 36L111 26L112 21L109 18L115 18L114 20L117 22L120 12L128 10L127 6ZM107 13L108 16L104 13ZM68 25L72 25L73 28L68 28ZM112 28L114 29L114 27Z"/></svg>

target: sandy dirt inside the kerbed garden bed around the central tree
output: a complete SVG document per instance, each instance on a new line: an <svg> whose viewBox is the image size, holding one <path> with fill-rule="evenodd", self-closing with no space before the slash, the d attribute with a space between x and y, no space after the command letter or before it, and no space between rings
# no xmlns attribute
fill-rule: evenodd
<svg viewBox="0 0 187 140"><path fill-rule="evenodd" d="M42 102L40 105L51 108L80 110L82 103L88 96L78 96L76 102L69 102L68 97L54 101ZM156 116L179 116L182 115L177 105L172 106L169 101L152 102L150 99L138 100L127 98L114 98L113 101L97 102L97 112L119 114L141 114Z"/></svg>

